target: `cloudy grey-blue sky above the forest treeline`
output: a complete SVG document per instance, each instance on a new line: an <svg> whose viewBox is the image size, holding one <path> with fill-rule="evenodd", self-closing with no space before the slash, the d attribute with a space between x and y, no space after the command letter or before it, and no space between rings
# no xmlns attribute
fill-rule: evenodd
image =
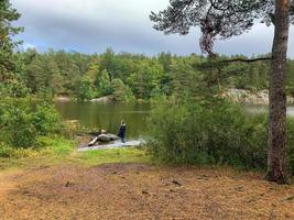
<svg viewBox="0 0 294 220"><path fill-rule="evenodd" d="M18 37L23 48L35 47L104 53L115 52L155 55L171 52L178 55L200 54L198 29L185 36L164 35L152 28L151 11L157 12L168 0L11 0L22 16L15 25L24 26ZM241 36L218 41L214 51L247 56L269 53L273 28L257 23ZM294 57L294 28L290 30L288 57Z"/></svg>

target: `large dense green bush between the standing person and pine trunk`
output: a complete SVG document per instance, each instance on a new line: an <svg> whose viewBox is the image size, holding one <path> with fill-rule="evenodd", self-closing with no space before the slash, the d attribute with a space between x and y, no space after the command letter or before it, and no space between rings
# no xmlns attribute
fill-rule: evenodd
<svg viewBox="0 0 294 220"><path fill-rule="evenodd" d="M162 101L148 122L149 135L152 136L150 151L161 161L266 167L265 114L249 117L240 106L219 99L182 103ZM290 164L293 168L294 120L288 121L288 128Z"/></svg>

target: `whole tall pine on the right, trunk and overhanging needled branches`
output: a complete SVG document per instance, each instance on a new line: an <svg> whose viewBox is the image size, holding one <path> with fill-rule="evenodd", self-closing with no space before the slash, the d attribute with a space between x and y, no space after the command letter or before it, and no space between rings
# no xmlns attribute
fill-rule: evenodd
<svg viewBox="0 0 294 220"><path fill-rule="evenodd" d="M190 26L202 30L200 47L209 57L217 37L230 38L250 30L255 19L273 23L274 41L270 75L270 129L268 179L287 183L285 73L290 21L294 22L293 0L198 1L174 0L150 18L166 34L187 34ZM291 19L291 20L290 20Z"/></svg>

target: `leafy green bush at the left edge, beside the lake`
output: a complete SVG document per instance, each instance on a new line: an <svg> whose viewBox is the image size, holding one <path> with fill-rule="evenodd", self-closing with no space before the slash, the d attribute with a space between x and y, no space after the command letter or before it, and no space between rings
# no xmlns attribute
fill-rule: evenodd
<svg viewBox="0 0 294 220"><path fill-rule="evenodd" d="M12 147L36 145L37 135L62 129L56 110L46 103L32 103L28 99L1 100L0 141Z"/></svg>

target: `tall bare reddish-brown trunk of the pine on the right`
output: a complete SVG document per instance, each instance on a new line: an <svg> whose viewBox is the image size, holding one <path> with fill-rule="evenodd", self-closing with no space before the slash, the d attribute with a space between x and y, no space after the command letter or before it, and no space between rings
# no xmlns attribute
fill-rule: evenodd
<svg viewBox="0 0 294 220"><path fill-rule="evenodd" d="M286 53L290 25L290 0L275 0L275 29L270 76L270 129L268 179L288 183L286 157Z"/></svg>

